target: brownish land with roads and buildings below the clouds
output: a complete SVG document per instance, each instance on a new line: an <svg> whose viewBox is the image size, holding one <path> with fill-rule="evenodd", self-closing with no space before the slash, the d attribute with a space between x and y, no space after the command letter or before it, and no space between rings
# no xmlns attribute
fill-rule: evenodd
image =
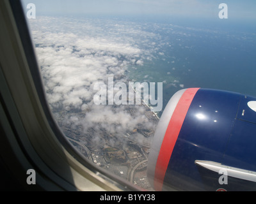
<svg viewBox="0 0 256 204"><path fill-rule="evenodd" d="M159 118L156 113L151 112L150 108L143 105L143 103L140 106L145 108L145 116L148 121L157 124ZM125 111L131 115L134 114L134 106L127 105L125 108ZM82 126L74 127L70 123L63 122L67 116L76 115L76 117L82 119L85 114L86 112L58 112L57 122L67 139L90 162L129 180L136 186L152 191L153 189L147 179L147 163L154 129L137 126L127 133L113 135L106 132L104 128L88 128L84 133ZM101 141L104 141L104 145L97 145L93 142L95 135L100 137ZM138 135L145 138L145 140L138 143L136 140ZM115 141L115 145L111 145L110 141Z"/></svg>

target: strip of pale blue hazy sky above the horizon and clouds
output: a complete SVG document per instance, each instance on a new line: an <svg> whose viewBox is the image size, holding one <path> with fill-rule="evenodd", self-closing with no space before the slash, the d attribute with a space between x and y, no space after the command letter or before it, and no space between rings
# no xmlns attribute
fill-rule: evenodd
<svg viewBox="0 0 256 204"><path fill-rule="evenodd" d="M255 0L22 0L36 4L37 15L174 15L218 18L219 4L228 5L228 18L256 19Z"/></svg>

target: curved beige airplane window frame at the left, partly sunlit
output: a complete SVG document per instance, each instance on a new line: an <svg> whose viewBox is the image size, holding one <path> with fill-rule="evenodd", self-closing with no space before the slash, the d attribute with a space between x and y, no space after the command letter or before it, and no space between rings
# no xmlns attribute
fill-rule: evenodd
<svg viewBox="0 0 256 204"><path fill-rule="evenodd" d="M4 161L22 186L47 191L140 191L88 161L56 124L20 0L0 1L0 25L1 126L17 163L7 157ZM38 188L26 184L29 168L36 171Z"/></svg>

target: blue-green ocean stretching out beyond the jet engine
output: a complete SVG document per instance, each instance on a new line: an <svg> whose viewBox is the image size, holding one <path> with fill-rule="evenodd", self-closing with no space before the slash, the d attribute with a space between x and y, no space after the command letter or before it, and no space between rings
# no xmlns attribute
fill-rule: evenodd
<svg viewBox="0 0 256 204"><path fill-rule="evenodd" d="M157 36L152 41L157 51L143 66L130 66L129 76L163 82L163 107L175 92L190 87L256 96L255 24L225 20L147 22L145 31Z"/></svg>

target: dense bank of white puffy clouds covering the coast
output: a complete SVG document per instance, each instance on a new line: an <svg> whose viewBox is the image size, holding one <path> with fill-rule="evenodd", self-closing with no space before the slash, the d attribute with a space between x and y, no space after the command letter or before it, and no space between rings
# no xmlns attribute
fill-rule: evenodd
<svg viewBox="0 0 256 204"><path fill-rule="evenodd" d="M93 86L97 82L108 85L109 77L115 83L128 82L124 75L127 67L141 66L143 59L152 57L148 50L136 45L131 33L137 38L152 38L152 34L129 27L127 32L120 31L125 34L112 36L111 29L104 33L100 26L53 17L37 17L31 24L45 92L52 112L57 119L62 118L59 124L81 129L80 140L84 143L88 143L86 135L95 131L90 145L113 145L124 142L124 135L138 127L154 129L156 124L146 117L145 106L95 105ZM106 140L104 134L110 139ZM117 141L111 135L118 135ZM133 140L150 140L141 136L135 133Z"/></svg>

